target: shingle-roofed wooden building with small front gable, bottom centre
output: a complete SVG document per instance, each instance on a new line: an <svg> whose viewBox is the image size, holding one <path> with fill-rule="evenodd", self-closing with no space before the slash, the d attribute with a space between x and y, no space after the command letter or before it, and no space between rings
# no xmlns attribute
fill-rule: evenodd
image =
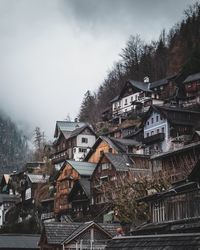
<svg viewBox="0 0 200 250"><path fill-rule="evenodd" d="M118 224L45 223L39 241L40 249L105 249L116 235Z"/></svg>

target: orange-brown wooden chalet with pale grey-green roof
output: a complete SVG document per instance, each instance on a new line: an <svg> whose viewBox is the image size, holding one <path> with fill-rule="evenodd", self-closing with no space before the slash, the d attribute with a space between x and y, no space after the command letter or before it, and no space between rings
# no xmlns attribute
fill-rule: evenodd
<svg viewBox="0 0 200 250"><path fill-rule="evenodd" d="M70 214L71 204L68 201L75 182L82 178L90 178L96 164L81 161L66 161L56 177L56 194L54 211L57 215Z"/></svg>

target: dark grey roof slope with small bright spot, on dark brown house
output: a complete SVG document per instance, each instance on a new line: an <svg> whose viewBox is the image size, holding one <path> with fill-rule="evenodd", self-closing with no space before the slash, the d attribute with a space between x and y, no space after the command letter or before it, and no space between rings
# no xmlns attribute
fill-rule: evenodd
<svg viewBox="0 0 200 250"><path fill-rule="evenodd" d="M117 171L128 171L132 164L127 155L105 153L105 156Z"/></svg>

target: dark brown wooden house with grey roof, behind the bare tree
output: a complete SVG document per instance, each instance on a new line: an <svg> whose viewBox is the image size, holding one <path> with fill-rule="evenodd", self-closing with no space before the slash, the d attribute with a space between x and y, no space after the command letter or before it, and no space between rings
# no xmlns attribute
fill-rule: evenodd
<svg viewBox="0 0 200 250"><path fill-rule="evenodd" d="M129 177L134 179L144 175L151 175L151 163L147 156L104 153L91 176L92 217L98 221L108 221L106 217L113 217L112 200L115 199L117 186Z"/></svg>

